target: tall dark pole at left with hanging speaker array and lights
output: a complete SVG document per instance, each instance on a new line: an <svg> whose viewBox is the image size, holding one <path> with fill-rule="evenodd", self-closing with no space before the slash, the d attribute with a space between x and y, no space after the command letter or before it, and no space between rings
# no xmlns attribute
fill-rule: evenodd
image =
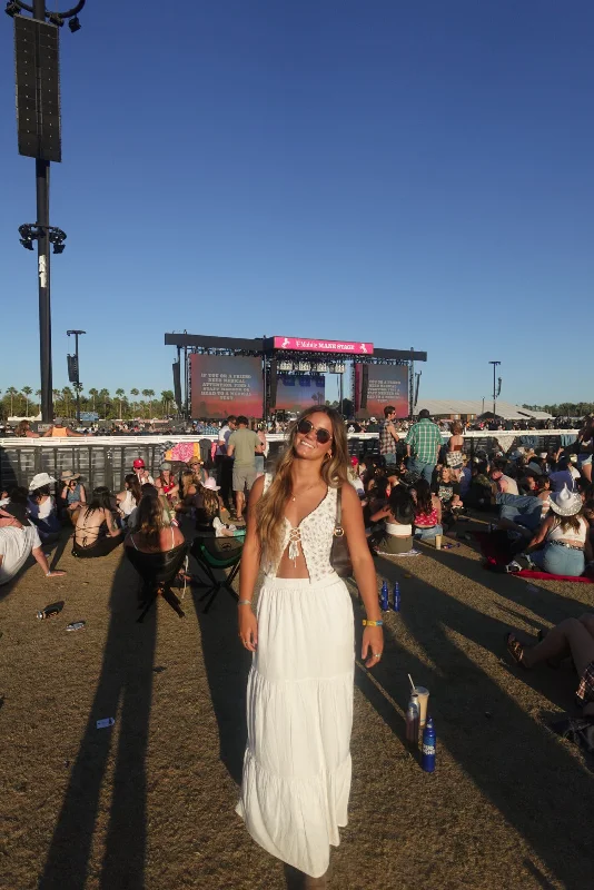
<svg viewBox="0 0 594 890"><path fill-rule="evenodd" d="M66 235L50 226L50 162L61 161L60 89L58 30L69 19L75 33L80 30L78 12L86 0L66 12L46 9L46 0L8 0L6 12L14 19L17 63L17 120L19 152L36 159L37 221L21 226L21 244L32 250L37 240L39 285L39 355L41 377L41 418L53 419L50 307L50 244L61 254ZM31 18L23 18L22 11ZM49 20L49 22L46 21ZM24 229L24 231L23 231ZM57 234L57 237L52 237Z"/></svg>

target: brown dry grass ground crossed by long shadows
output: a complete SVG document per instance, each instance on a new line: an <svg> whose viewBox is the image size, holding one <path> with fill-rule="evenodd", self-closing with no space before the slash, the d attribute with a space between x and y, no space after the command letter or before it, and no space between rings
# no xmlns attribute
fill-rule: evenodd
<svg viewBox="0 0 594 890"><path fill-rule="evenodd" d="M86 562L66 547L59 565L65 578L33 565L0 590L0 887L285 888L234 812L249 656L231 597L204 615L188 590L184 621L159 602L137 624L121 552ZM382 664L357 666L350 823L331 887L591 886L594 777L543 722L572 708L575 676L521 672L503 636L592 609L594 585L494 575L463 542L379 557L377 571L378 584L399 580L402 612ZM62 613L37 621L57 600ZM359 625L356 595L354 607ZM77 620L86 630L67 633ZM433 775L404 742L408 672L430 690Z"/></svg>

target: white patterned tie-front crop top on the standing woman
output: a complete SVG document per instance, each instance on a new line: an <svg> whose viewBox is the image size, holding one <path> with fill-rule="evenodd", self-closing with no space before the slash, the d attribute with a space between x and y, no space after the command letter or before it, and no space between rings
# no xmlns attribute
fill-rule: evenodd
<svg viewBox="0 0 594 890"><path fill-rule="evenodd" d="M264 491L266 494L273 482L273 476L267 473L264 479ZM304 516L299 525L294 528L285 517L285 531L280 555L270 562L264 554L263 567L267 575L276 575L283 554L289 548L289 560L297 558L299 548L301 550L309 574L309 581L319 581L325 575L334 572L330 564L330 551L333 546L334 526L336 524L336 495L338 490L330 488L326 497L317 505L311 513Z"/></svg>

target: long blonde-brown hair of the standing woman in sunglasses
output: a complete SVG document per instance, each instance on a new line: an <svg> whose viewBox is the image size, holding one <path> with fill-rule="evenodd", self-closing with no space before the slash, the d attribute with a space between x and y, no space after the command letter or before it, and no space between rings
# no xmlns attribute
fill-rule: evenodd
<svg viewBox="0 0 594 890"><path fill-rule="evenodd" d="M290 425L287 447L278 458L275 477L266 494L256 505L256 518L260 546L266 550L267 557L274 562L280 554L285 525L285 505L293 491L291 469L295 458L295 437L297 425L313 414L325 414L333 427L331 457L325 458L320 476L331 488L339 488L348 482L348 445L343 417L335 408L320 405L306 408Z"/></svg>

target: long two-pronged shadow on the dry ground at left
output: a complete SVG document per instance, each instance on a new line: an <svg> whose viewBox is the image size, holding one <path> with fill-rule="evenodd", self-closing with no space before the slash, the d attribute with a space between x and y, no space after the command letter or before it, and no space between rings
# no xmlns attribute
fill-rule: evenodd
<svg viewBox="0 0 594 890"><path fill-rule="evenodd" d="M87 729L51 840L39 890L81 890L108 767L112 729L97 721L118 714L113 797L106 853L99 876L102 890L142 890L147 834L146 770L156 614L136 623L138 576L122 557L113 578L111 617L101 673Z"/></svg>

